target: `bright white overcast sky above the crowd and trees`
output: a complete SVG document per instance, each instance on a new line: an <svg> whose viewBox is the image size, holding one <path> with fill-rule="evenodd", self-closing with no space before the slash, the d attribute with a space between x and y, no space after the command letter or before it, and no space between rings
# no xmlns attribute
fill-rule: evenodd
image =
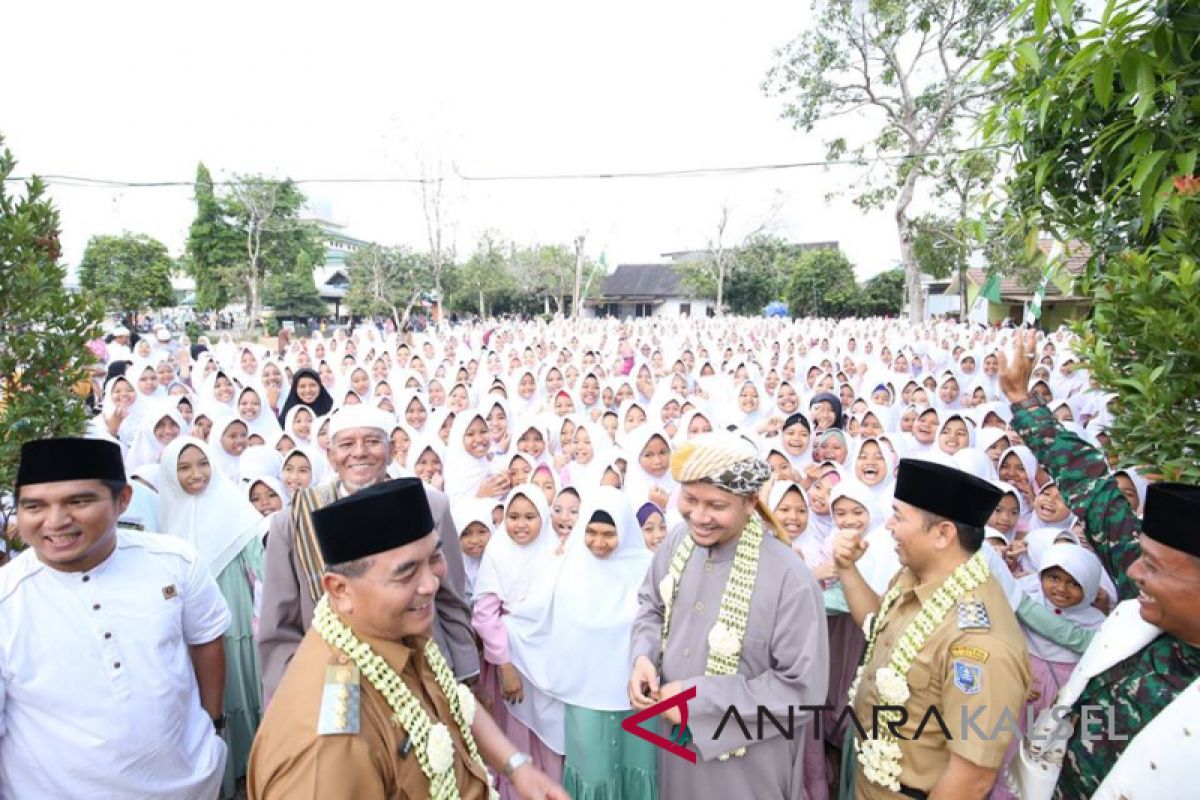
<svg viewBox="0 0 1200 800"><path fill-rule="evenodd" d="M762 80L809 24L805 0L727 2L142 2L38 0L5 11L0 134L17 174L180 187L53 186L67 261L122 230L182 252L191 181L679 170L820 161ZM887 212L850 198L853 167L674 179L448 182L460 257L497 230L522 245L584 234L610 265L726 241L769 221L836 240L865 279L895 266ZM346 233L422 247L413 185L305 184ZM827 196L834 194L827 200Z"/></svg>

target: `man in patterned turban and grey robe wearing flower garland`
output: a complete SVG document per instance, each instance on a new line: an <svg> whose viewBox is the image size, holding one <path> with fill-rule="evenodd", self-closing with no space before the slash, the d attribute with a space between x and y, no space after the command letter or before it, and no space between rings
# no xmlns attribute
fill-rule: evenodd
<svg viewBox="0 0 1200 800"><path fill-rule="evenodd" d="M826 697L821 589L763 530L758 491L770 470L752 444L726 432L695 437L672 456L671 474L684 524L659 548L638 591L629 698L646 709L695 688L686 726L676 705L659 727L698 758L660 754L661 796L800 796L811 715L792 706ZM745 727L727 718L731 705L749 715ZM782 721L794 714L794 736L767 724L760 738L758 708Z"/></svg>

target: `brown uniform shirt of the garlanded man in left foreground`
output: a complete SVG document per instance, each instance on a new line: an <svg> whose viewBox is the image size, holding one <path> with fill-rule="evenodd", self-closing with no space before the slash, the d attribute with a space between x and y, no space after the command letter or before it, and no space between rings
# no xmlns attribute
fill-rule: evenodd
<svg viewBox="0 0 1200 800"><path fill-rule="evenodd" d="M425 711L445 723L455 744L455 777L463 800L486 800L487 775L472 759L450 705L420 649L424 640L406 639L413 646L359 636L395 669L421 700ZM300 643L278 690L271 698L250 753L246 787L251 800L392 800L430 796L430 781L421 771L416 752L406 750L407 732L391 722L388 700L366 678L359 678L358 715L348 715L349 733L319 734L322 698L329 667L350 664L331 649L316 630ZM343 673L344 674L344 673ZM355 718L358 724L355 726Z"/></svg>

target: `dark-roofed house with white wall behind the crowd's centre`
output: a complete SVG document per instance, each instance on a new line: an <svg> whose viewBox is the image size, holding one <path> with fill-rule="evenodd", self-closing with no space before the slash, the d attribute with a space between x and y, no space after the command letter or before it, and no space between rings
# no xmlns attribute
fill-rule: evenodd
<svg viewBox="0 0 1200 800"><path fill-rule="evenodd" d="M620 264L604 279L600 296L588 301L593 317L710 317L710 300L682 288L676 264Z"/></svg>

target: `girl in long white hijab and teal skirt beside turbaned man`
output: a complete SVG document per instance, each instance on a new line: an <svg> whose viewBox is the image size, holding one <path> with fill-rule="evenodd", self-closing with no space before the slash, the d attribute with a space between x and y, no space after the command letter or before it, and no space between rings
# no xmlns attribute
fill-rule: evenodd
<svg viewBox="0 0 1200 800"><path fill-rule="evenodd" d="M650 559L629 500L612 487L590 489L544 621L554 652L530 663L533 682L566 704L563 786L572 798L656 795L655 748L620 730L631 714L630 634Z"/></svg>

